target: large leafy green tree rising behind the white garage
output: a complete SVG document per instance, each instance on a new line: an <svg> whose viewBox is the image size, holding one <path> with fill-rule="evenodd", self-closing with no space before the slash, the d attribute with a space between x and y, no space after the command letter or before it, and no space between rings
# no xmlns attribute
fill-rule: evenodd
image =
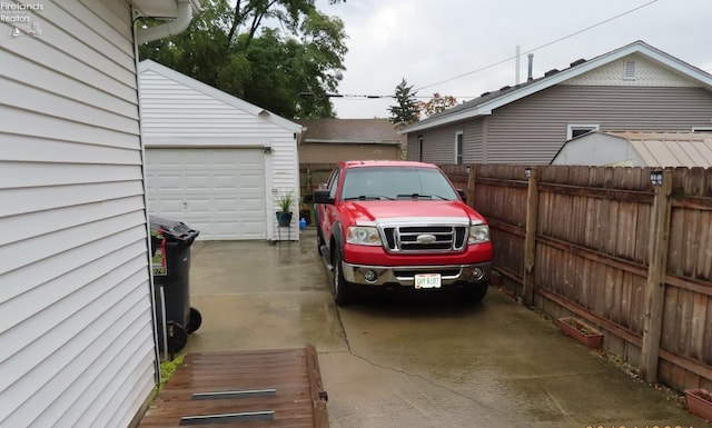
<svg viewBox="0 0 712 428"><path fill-rule="evenodd" d="M185 32L141 46L140 58L279 116L334 117L328 93L336 91L345 70L344 22L320 13L315 0L230 3L204 0Z"/></svg>

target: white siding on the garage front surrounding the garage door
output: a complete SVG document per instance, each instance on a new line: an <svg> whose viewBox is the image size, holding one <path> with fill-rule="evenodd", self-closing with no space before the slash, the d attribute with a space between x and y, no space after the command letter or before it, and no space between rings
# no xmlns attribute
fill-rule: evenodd
<svg viewBox="0 0 712 428"><path fill-rule="evenodd" d="M295 132L299 132L301 127L155 62L142 61L139 76L142 132L147 149L264 150L269 147L270 152L264 153L266 207L263 221L266 237L270 240L298 240L298 216L294 216L290 231L277 229L274 192L293 191L296 200L299 200L299 159ZM155 177L155 171L149 169L148 173ZM159 198L150 192L149 197L152 200ZM298 206L294 207L295 213L298 209ZM152 210L150 203L149 210ZM171 219L194 227L188 222L188 217L175 217ZM253 238L254 235L239 239Z"/></svg>

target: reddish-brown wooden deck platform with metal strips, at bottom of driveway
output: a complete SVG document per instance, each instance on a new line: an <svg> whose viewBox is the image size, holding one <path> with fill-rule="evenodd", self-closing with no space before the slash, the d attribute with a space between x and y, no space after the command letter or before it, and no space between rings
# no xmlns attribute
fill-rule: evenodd
<svg viewBox="0 0 712 428"><path fill-rule="evenodd" d="M188 354L139 427L328 428L313 346Z"/></svg>

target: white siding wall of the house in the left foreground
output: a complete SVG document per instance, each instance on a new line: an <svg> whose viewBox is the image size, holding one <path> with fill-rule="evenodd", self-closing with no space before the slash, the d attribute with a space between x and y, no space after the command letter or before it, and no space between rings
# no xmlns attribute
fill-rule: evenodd
<svg viewBox="0 0 712 428"><path fill-rule="evenodd" d="M42 4L0 38L0 427L126 427L156 364L131 10Z"/></svg>

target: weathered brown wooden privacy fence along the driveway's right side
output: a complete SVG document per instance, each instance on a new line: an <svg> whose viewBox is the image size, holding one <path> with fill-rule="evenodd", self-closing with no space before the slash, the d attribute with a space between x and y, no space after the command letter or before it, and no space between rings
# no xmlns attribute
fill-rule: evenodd
<svg viewBox="0 0 712 428"><path fill-rule="evenodd" d="M442 166L527 306L574 315L647 381L712 389L712 169Z"/></svg>

